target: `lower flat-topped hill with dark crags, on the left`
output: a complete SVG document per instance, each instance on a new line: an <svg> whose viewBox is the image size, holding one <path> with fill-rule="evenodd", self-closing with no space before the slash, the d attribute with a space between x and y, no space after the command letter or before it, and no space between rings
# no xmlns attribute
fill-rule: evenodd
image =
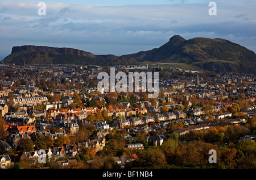
<svg viewBox="0 0 256 180"><path fill-rule="evenodd" d="M114 55L93 55L73 48L53 48L34 45L13 47L11 54L3 59L4 64L76 64L76 65L131 65L134 59Z"/></svg>

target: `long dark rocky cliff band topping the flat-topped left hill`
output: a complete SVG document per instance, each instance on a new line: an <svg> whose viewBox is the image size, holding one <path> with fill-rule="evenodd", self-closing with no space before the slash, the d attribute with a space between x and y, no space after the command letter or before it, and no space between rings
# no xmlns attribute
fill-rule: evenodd
<svg viewBox="0 0 256 180"><path fill-rule="evenodd" d="M16 52L47 52L47 53L67 53L71 55L79 55L79 56L88 56L95 57L90 52L80 51L79 49L73 48L52 48L52 47L43 47L43 46L35 46L35 45L23 45L20 47L13 47L11 53Z"/></svg>

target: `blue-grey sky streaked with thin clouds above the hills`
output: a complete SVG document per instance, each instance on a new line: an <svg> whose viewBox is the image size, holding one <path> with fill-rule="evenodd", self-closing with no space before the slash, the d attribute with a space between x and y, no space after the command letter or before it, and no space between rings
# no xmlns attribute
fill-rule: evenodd
<svg viewBox="0 0 256 180"><path fill-rule="evenodd" d="M0 60L20 45L68 47L94 55L158 48L174 35L222 38L256 52L256 1L216 0L0 1Z"/></svg>

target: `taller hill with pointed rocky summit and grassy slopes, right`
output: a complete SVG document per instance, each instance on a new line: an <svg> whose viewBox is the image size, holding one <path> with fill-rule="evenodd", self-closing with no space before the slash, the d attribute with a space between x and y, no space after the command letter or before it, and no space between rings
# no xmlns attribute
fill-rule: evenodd
<svg viewBox="0 0 256 180"><path fill-rule="evenodd" d="M151 64L187 65L192 70L256 73L256 55L253 51L220 38L196 37L185 40L175 35L159 48L122 57Z"/></svg>

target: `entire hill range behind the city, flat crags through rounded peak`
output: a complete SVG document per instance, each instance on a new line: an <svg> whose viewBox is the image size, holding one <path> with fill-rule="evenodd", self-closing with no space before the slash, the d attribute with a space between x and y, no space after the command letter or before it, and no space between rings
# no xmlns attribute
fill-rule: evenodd
<svg viewBox="0 0 256 180"><path fill-rule="evenodd" d="M186 70L210 70L256 74L256 55L253 51L225 39L179 35L159 48L130 55L93 55L72 48L52 48L24 45L13 47L3 63L22 64L77 64L77 65L162 65Z"/></svg>

